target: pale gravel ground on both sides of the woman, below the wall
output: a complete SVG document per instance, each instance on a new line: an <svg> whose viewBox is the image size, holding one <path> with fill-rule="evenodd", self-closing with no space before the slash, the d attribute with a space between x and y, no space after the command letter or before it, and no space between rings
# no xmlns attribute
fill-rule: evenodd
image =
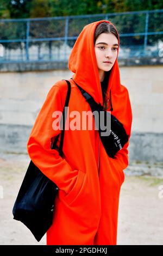
<svg viewBox="0 0 163 256"><path fill-rule="evenodd" d="M25 154L0 154L0 245L46 245L46 235L37 242L12 216L29 161ZM138 166L135 163L136 174ZM150 167L151 173L154 168ZM146 171L141 176L132 175L131 170L134 173L134 164L124 171L126 178L121 187L117 245L163 245L163 179L149 172L145 175Z"/></svg>

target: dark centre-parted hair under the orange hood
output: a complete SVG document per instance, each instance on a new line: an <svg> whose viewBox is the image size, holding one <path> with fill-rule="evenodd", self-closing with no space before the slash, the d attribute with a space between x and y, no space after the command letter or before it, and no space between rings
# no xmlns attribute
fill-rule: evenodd
<svg viewBox="0 0 163 256"><path fill-rule="evenodd" d="M96 27L96 30L95 30L94 46L95 46L95 42L96 42L98 36L101 35L102 33L114 34L118 40L118 34L117 34L115 27L108 22L101 22L101 23L99 23L99 25ZM108 102L107 102L107 98L106 98L106 96L107 96L106 95L106 91L107 91L106 87L108 86L109 75L110 75L110 71L108 71L108 72L105 71L105 77L104 77L105 83L102 83L103 110L108 109Z"/></svg>

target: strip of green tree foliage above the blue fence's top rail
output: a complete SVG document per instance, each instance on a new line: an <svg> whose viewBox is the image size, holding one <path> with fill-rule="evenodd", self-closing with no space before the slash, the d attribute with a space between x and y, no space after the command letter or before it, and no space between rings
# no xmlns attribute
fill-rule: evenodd
<svg viewBox="0 0 163 256"><path fill-rule="evenodd" d="M163 9L160 0L1 0L0 19Z"/></svg>

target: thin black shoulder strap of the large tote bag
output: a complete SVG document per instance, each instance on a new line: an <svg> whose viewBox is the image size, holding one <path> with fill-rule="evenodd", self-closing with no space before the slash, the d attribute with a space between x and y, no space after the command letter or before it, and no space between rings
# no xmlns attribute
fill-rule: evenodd
<svg viewBox="0 0 163 256"><path fill-rule="evenodd" d="M64 80L64 79L62 79L62 80ZM62 127L62 131L61 131L61 138L60 138L60 144L59 144L59 155L60 156L62 156L62 147L63 147L63 143L64 143L64 134L65 134L65 120L66 120L65 117L67 117L67 109L65 109L65 107L68 107L68 103L70 100L70 94L71 94L71 84L68 80L65 80L65 81L67 82L68 90L67 90L67 96L66 96L66 100L65 100L64 110L62 112L63 127ZM59 135L60 135L60 133L59 133ZM54 143L51 145L51 149L56 148L59 135L57 135L55 137Z"/></svg>

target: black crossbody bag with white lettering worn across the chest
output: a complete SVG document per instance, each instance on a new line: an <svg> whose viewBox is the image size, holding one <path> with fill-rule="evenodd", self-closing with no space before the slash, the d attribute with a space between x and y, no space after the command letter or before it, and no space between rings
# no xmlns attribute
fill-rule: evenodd
<svg viewBox="0 0 163 256"><path fill-rule="evenodd" d="M76 82L75 82L76 83ZM98 119L95 118L95 123L98 126L98 132L99 136L101 138L101 141L103 143L103 146L105 148L106 153L108 156L114 158L116 153L121 150L124 147L124 144L128 142L129 136L126 133L126 130L123 127L123 124L112 114L110 114L108 111L103 111L103 107L98 104L93 97L85 92L84 89L82 89L78 84L76 83L77 87L79 88L80 92L85 97L86 101L89 103L91 107L91 111L97 111L98 112ZM111 121L111 131L109 136L103 136L104 130L101 129L101 115L100 112L104 112L103 121L106 125L106 118ZM110 119L109 119L110 118Z"/></svg>

